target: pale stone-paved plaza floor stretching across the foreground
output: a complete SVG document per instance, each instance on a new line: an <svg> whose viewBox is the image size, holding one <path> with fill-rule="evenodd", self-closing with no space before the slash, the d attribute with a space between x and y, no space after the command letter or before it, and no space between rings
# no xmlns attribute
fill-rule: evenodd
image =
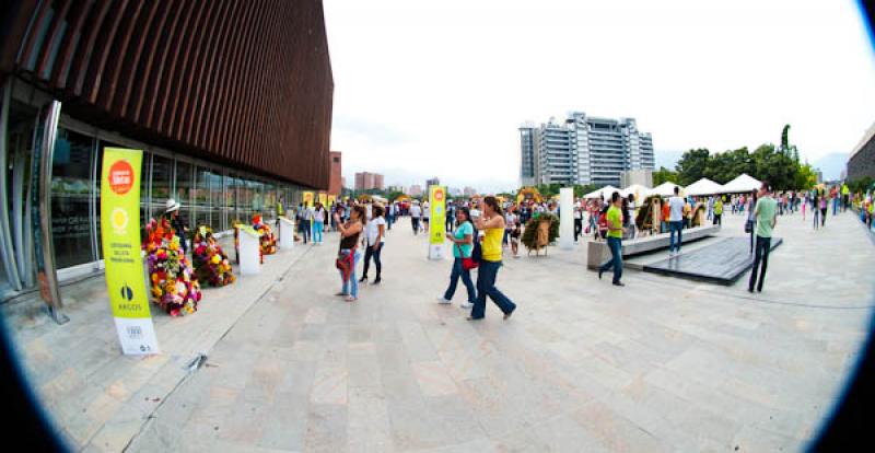
<svg viewBox="0 0 875 453"><path fill-rule="evenodd" d="M720 236L743 234L742 217L724 216ZM798 213L780 217L775 234L784 243L770 257L761 294L747 293L747 275L723 287L627 270L627 287L617 288L585 269L583 241L573 251L550 247L547 256L523 249L520 259L505 255L498 279L517 311L504 321L488 302L478 322L458 306L462 286L453 305L436 303L451 263L425 258L428 239L413 236L409 220L388 234L383 282L360 287L355 303L334 295L337 236L328 234L324 246L283 257L275 272L281 279L265 278L260 291L229 299L254 300L233 315L226 309L231 321L215 330L206 363L172 375L148 416L122 431L121 445L800 451L836 403L867 335L875 253L851 213L830 216L818 231ZM100 297L93 303L108 312ZM208 304L188 318L156 323L219 323L223 312ZM34 336L24 328L16 335ZM159 335L166 344L173 334ZM118 351L107 346L102 353ZM118 450L100 441L100 430L78 444Z"/></svg>

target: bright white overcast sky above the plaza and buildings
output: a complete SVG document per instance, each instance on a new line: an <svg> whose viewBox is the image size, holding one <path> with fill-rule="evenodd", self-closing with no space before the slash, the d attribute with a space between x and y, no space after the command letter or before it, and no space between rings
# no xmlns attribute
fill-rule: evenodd
<svg viewBox="0 0 875 453"><path fill-rule="evenodd" d="M324 0L343 175L516 187L517 127L633 117L660 151L791 142L817 161L875 121L844 0Z"/></svg>

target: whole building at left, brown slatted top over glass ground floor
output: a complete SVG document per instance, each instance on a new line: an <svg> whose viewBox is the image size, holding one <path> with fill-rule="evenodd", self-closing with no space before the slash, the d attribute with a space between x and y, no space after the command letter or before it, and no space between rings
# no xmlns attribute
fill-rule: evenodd
<svg viewBox="0 0 875 453"><path fill-rule="evenodd" d="M174 198L226 234L328 189L318 0L13 1L0 38L0 300L103 269L106 147L144 151L141 224Z"/></svg>

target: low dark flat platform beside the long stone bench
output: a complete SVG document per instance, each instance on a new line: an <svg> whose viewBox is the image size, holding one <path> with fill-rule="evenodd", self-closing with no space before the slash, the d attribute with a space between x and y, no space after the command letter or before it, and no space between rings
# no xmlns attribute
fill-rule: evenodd
<svg viewBox="0 0 875 453"><path fill-rule="evenodd" d="M781 237L772 237L772 251L782 242ZM680 256L646 264L643 270L690 280L732 284L752 266L750 240L727 237L691 252L682 252Z"/></svg>

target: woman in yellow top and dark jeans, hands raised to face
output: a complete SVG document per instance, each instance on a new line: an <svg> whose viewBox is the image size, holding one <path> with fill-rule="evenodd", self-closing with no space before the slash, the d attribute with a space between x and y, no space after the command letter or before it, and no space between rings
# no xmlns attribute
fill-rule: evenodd
<svg viewBox="0 0 875 453"><path fill-rule="evenodd" d="M516 305L495 288L495 278L501 267L501 240L504 236L504 216L495 197L483 199L483 214L476 220L477 229L483 232L482 257L477 270L477 301L471 309L468 320L482 320L486 316L486 297L504 313L504 318L511 317Z"/></svg>

